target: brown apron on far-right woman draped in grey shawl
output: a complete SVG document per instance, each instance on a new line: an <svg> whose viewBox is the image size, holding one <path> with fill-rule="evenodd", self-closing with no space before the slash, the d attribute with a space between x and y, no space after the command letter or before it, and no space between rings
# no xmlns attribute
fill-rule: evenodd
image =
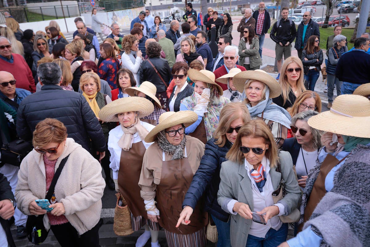
<svg viewBox="0 0 370 247"><path fill-rule="evenodd" d="M347 157L347 156L346 156ZM342 160L338 160L336 157L327 154L326 158L324 159L323 163L320 167L320 173L317 175L316 181L313 184L313 188L310 194L310 197L307 199L307 205L305 208L305 214L303 217L303 223L305 223L309 218L312 216L313 211L315 210L317 204L319 204L320 200L325 196L326 189L325 189L325 178L327 174L333 169L334 166L342 162L346 157L342 158ZM302 230L303 224L300 224L299 231Z"/></svg>

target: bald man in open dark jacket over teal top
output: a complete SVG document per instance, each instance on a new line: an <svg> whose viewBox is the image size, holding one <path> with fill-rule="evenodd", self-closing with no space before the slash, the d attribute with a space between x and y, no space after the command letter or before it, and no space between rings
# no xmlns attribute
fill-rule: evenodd
<svg viewBox="0 0 370 247"><path fill-rule="evenodd" d="M299 58L302 57L302 51L307 44L308 38L312 35L317 36L320 40L319 24L311 20L311 12L306 11L303 14L302 22L298 25L296 43L294 46L298 52Z"/></svg>

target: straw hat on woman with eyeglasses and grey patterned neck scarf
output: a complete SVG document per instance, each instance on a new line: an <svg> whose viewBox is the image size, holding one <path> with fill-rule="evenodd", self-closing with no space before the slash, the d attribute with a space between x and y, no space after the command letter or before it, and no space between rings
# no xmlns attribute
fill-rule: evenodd
<svg viewBox="0 0 370 247"><path fill-rule="evenodd" d="M188 127L195 123L198 119L198 115L194 111L167 111L159 116L159 124L153 128L147 137L145 137L145 142L150 143L157 139L157 135L162 130L170 128L178 124L184 124Z"/></svg>

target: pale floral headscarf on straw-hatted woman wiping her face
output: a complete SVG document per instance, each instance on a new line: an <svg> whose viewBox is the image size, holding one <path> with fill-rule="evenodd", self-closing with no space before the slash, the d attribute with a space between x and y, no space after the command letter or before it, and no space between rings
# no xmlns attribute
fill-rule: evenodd
<svg viewBox="0 0 370 247"><path fill-rule="evenodd" d="M215 85L209 83L206 84L211 91L211 95L209 96L209 103L207 106L207 112L204 113L203 116L208 141L212 138L212 135L218 126L219 120L217 116L220 116L222 108L227 103L230 103L230 100L222 97ZM181 101L181 104L184 104L188 110L193 111L194 107L196 106L195 91L191 96L183 99Z"/></svg>

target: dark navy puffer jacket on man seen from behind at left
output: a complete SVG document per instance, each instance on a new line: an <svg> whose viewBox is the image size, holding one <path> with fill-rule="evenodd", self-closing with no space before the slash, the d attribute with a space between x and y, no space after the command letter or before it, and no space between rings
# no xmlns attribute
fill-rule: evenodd
<svg viewBox="0 0 370 247"><path fill-rule="evenodd" d="M68 137L90 151L105 151L105 138L97 117L79 93L63 90L58 85L44 85L41 91L24 98L17 114L17 134L26 141L32 140L36 124L54 118L67 127Z"/></svg>

